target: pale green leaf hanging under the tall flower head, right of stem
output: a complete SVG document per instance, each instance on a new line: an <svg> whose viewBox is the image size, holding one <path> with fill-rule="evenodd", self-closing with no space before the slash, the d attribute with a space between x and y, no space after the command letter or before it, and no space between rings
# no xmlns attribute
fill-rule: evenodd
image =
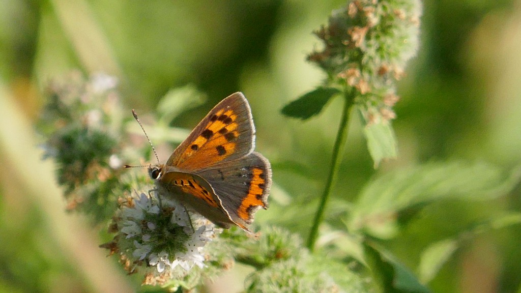
<svg viewBox="0 0 521 293"><path fill-rule="evenodd" d="M364 128L367 148L375 163L375 168L386 158L395 158L398 153L396 138L390 123L374 123Z"/></svg>

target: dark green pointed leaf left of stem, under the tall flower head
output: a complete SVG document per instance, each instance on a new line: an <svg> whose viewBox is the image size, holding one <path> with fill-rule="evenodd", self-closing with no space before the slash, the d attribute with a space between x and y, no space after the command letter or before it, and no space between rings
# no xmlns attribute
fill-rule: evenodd
<svg viewBox="0 0 521 293"><path fill-rule="evenodd" d="M339 93L340 90L335 88L320 87L287 104L281 112L288 117L306 120L320 113L331 97Z"/></svg>

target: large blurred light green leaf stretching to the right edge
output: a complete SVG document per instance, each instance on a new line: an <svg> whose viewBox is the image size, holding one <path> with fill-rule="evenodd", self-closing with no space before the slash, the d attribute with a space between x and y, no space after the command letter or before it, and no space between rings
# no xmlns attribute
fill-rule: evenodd
<svg viewBox="0 0 521 293"><path fill-rule="evenodd" d="M378 238L390 238L396 218L443 199L490 200L519 182L519 168L506 172L486 163L445 162L395 170L369 182L353 205L348 225Z"/></svg>

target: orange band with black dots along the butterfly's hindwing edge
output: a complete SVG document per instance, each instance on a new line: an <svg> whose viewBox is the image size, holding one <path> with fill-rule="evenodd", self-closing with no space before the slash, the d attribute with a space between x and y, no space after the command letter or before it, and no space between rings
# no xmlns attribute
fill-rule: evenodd
<svg viewBox="0 0 521 293"><path fill-rule="evenodd" d="M251 221L251 213L255 211L259 206L266 207L263 202L262 196L265 189L266 180L263 179L264 170L261 168L252 169L252 180L250 181L250 189L248 194L242 200L241 206L237 214L245 222Z"/></svg>

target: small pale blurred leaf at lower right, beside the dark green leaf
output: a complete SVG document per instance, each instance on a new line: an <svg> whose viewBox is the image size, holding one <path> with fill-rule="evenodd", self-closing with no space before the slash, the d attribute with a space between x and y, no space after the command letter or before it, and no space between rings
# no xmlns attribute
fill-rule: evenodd
<svg viewBox="0 0 521 293"><path fill-rule="evenodd" d="M458 241L445 239L430 245L421 254L418 273L421 282L429 283L440 268L450 259L458 247Z"/></svg>

